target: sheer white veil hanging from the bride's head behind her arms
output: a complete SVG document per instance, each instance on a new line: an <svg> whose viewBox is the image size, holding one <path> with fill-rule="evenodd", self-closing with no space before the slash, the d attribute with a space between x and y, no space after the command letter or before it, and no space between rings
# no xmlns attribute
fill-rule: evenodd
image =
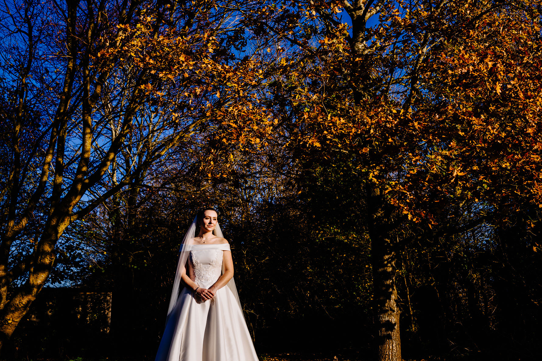
<svg viewBox="0 0 542 361"><path fill-rule="evenodd" d="M196 225L197 225L197 215L192 220L190 227L188 227L188 232L186 232L186 234L184 235L183 241L180 244L179 258L177 261L177 270L175 272L175 280L173 280L173 291L171 292L170 304L167 309L166 324L167 324L167 319L169 319L172 310L175 308L175 305L177 304L177 298L179 297L179 287L180 287L181 279L182 279L181 276L183 273L186 272L185 265L186 265L186 261L188 260L190 246L194 244L194 238L196 237ZM216 235L216 237L224 238L224 235L222 234L220 225L218 225L218 223L216 224L216 227L212 231L212 233ZM222 265L222 273L224 273L224 265ZM237 301L237 304L239 305L239 308L241 309L241 313L242 313L243 307L241 307L241 301L239 300L237 287L235 286L235 281L233 277L229 280L226 286L229 287L231 292L234 294L235 300Z"/></svg>

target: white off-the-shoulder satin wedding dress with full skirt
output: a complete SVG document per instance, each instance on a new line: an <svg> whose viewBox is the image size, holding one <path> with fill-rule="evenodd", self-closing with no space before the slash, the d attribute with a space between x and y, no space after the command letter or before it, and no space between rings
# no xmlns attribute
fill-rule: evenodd
<svg viewBox="0 0 542 361"><path fill-rule="evenodd" d="M189 245L192 280L209 288L222 272L229 244ZM167 320L155 361L257 361L242 310L224 286L212 300L201 301L184 287Z"/></svg>

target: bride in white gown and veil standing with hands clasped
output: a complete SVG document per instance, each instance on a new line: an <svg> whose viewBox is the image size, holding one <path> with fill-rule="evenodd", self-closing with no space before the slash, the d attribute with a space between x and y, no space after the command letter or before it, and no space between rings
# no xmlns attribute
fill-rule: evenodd
<svg viewBox="0 0 542 361"><path fill-rule="evenodd" d="M217 216L214 208L198 212L183 239L155 361L258 359L237 296L230 246ZM184 288L179 293L180 280Z"/></svg>

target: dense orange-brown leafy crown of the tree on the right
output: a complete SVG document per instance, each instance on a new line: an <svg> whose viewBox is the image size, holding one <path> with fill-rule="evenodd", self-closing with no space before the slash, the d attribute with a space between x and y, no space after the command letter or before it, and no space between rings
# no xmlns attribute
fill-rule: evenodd
<svg viewBox="0 0 542 361"><path fill-rule="evenodd" d="M398 5L371 29L364 58L342 27L320 41L326 56L302 74L317 87L292 81L288 94L298 142L330 159L351 154L353 170L415 222L434 224L451 199L504 213L542 204L535 4Z"/></svg>

